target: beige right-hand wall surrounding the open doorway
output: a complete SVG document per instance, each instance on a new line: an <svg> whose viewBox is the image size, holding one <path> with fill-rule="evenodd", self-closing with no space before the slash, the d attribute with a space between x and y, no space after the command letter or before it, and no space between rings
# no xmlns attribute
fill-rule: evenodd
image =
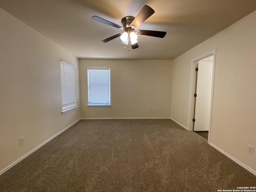
<svg viewBox="0 0 256 192"><path fill-rule="evenodd" d="M171 117L188 127L191 60L216 49L211 144L256 173L256 11L173 61Z"/></svg>

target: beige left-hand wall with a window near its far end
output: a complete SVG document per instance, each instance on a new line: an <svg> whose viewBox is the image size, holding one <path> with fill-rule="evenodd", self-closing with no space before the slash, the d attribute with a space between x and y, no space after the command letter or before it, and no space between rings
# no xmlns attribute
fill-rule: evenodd
<svg viewBox="0 0 256 192"><path fill-rule="evenodd" d="M80 119L61 114L60 59L78 59L0 9L0 172ZM19 138L25 136L25 144Z"/></svg>

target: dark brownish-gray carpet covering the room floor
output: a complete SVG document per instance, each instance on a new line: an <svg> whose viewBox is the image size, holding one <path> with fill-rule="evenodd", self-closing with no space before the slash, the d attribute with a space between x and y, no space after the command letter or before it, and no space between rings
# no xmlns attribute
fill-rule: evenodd
<svg viewBox="0 0 256 192"><path fill-rule="evenodd" d="M256 176L172 120L80 120L0 176L1 192L216 192Z"/></svg>

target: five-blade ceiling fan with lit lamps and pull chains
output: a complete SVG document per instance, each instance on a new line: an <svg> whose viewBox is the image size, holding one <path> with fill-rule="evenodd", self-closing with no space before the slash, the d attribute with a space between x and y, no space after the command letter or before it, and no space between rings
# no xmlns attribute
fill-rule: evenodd
<svg viewBox="0 0 256 192"><path fill-rule="evenodd" d="M136 49L139 47L138 41L137 41L137 38L138 38L137 34L159 37L159 38L164 38L164 36L166 35L166 32L164 31L136 30L136 28L140 26L140 24L142 24L145 20L147 20L152 14L154 14L154 12L155 11L150 6L144 5L136 17L126 16L122 18L121 23L123 26L112 23L98 16L93 16L92 20L124 30L123 33L119 33L109 38L106 38L101 42L106 43L120 36L122 43L128 45L130 50L130 45L132 46L132 49Z"/></svg>

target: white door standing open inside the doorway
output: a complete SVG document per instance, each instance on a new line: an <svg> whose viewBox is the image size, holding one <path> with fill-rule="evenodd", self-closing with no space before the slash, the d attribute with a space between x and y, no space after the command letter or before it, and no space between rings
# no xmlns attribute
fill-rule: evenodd
<svg viewBox="0 0 256 192"><path fill-rule="evenodd" d="M213 56L198 62L194 131L209 130L212 70Z"/></svg>

